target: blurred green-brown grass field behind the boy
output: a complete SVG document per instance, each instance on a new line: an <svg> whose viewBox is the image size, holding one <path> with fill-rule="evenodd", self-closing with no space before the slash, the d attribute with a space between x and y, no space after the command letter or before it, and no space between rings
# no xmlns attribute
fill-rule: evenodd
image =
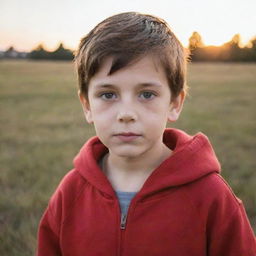
<svg viewBox="0 0 256 256"><path fill-rule="evenodd" d="M190 64L176 127L208 135L256 231L256 64ZM94 134L70 62L0 61L0 255L33 255L39 219Z"/></svg>

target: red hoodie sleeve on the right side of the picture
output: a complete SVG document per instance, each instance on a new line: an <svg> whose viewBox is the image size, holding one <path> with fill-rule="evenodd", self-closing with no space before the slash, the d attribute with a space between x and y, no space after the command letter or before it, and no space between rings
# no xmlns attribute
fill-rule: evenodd
<svg viewBox="0 0 256 256"><path fill-rule="evenodd" d="M207 223L207 255L255 256L256 240L242 201L224 185L222 199L212 205Z"/></svg>

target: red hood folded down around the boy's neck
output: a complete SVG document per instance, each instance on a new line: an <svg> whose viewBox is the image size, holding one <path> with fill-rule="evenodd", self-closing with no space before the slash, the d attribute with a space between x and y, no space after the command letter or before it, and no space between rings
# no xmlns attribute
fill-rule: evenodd
<svg viewBox="0 0 256 256"><path fill-rule="evenodd" d="M141 196L169 187L194 182L213 172L220 172L220 164L208 138L198 133L190 136L178 129L166 129L164 143L172 155L158 166L140 190ZM74 159L75 169L101 192L115 196L115 192L99 167L99 160L108 152L98 137L91 138Z"/></svg>

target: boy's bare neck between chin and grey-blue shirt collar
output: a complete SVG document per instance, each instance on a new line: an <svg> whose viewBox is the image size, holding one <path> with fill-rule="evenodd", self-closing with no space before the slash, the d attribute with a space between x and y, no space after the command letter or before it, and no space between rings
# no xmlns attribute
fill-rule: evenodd
<svg viewBox="0 0 256 256"><path fill-rule="evenodd" d="M137 192L150 174L171 155L171 150L164 144L155 154L151 152L138 158L118 157L108 153L104 156L102 169L114 190ZM154 156L154 157L152 157Z"/></svg>

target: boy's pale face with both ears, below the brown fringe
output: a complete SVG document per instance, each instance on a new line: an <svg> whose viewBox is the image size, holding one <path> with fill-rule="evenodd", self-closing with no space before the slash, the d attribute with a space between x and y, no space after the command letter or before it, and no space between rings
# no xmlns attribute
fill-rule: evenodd
<svg viewBox="0 0 256 256"><path fill-rule="evenodd" d="M176 121L184 92L171 102L171 91L160 63L147 55L111 75L107 58L91 78L88 101L80 94L86 119L97 136L119 157L139 157L163 147L167 121Z"/></svg>

